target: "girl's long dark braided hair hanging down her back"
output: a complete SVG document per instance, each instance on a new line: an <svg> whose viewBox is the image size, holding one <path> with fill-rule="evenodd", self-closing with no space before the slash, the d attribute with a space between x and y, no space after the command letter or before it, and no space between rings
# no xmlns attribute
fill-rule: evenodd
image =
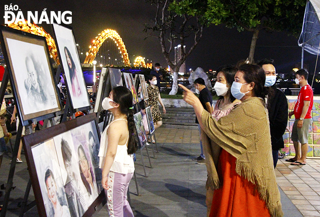
<svg viewBox="0 0 320 217"><path fill-rule="evenodd" d="M113 101L119 104L119 109L122 114L127 114L128 116L128 130L129 130L129 139L128 139L128 155L131 155L136 152L138 149L138 144L134 139L134 129L135 123L133 119L133 105L132 105L132 93L126 87L116 87L113 90Z"/></svg>

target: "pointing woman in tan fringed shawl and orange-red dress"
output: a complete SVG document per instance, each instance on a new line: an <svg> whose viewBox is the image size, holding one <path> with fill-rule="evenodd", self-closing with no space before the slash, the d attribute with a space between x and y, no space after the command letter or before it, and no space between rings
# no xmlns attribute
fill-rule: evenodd
<svg viewBox="0 0 320 217"><path fill-rule="evenodd" d="M214 189L209 217L283 217L272 165L265 79L260 66L240 65L231 94L241 104L219 121L179 84L185 91L183 99L201 120L204 147L213 153L213 162L207 162L208 184Z"/></svg>

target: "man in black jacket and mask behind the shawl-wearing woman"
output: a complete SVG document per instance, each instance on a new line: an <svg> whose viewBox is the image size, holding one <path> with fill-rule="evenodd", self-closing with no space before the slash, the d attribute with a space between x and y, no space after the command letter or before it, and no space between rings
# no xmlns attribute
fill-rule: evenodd
<svg viewBox="0 0 320 217"><path fill-rule="evenodd" d="M276 72L273 60L263 59L258 62L266 73L265 87L270 87L271 91L267 96L267 109L270 122L272 158L274 168L278 162L279 149L285 147L283 134L288 124L288 101L285 93L275 87Z"/></svg>

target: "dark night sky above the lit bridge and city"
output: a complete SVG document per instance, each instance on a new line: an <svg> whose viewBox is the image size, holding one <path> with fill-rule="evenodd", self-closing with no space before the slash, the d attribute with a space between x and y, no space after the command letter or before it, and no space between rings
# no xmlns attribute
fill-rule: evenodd
<svg viewBox="0 0 320 217"><path fill-rule="evenodd" d="M10 3L17 4L25 15L27 11L41 13L44 8L47 8L47 12L71 11L71 26L76 42L84 48L84 53L89 50L91 41L98 33L104 29L113 29L125 43L131 63L136 56L143 56L153 63L160 62L162 67L167 67L158 39L145 39L144 24L150 23L155 7L144 0L4 0L0 3L1 24L4 23L4 5ZM51 33L50 25L39 26ZM202 67L205 70L215 70L224 64L236 64L248 57L251 37L251 32L238 32L222 25L210 26L204 30L202 40L187 58L187 69ZM297 38L288 36L286 32L260 31L255 60L272 58L278 73L290 72L301 62L301 47L298 47L297 41ZM316 58L317 56L304 52L304 64L308 65L310 74L315 70ZM319 62L317 72L320 71Z"/></svg>

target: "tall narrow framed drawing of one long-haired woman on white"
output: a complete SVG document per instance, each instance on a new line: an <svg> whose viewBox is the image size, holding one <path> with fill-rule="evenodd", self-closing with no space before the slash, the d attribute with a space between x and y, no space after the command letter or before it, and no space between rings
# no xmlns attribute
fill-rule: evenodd
<svg viewBox="0 0 320 217"><path fill-rule="evenodd" d="M78 49L71 27L52 24L60 64L64 69L66 87L73 109L89 109L90 101L84 82Z"/></svg>

